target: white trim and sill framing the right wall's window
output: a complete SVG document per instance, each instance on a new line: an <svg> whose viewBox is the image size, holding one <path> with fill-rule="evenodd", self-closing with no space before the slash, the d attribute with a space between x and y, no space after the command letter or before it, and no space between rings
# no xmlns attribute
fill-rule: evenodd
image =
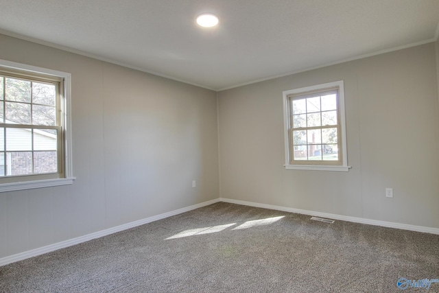
<svg viewBox="0 0 439 293"><path fill-rule="evenodd" d="M334 86L339 87L338 99L339 99L339 113L340 113L340 128L342 135L342 165L292 165L290 164L289 154L289 134L288 128L290 125L289 118L289 102L288 96L298 93L306 93L309 91L317 91L320 89L328 89ZM306 86L300 89L292 89L289 91L283 91L283 126L284 126L284 139L285 139L285 169L290 170L316 170L316 171L342 171L348 172L351 166L348 166L348 154L346 148L346 119L344 115L344 82L339 80L337 82L328 82L326 84L317 84L315 86Z"/></svg>

